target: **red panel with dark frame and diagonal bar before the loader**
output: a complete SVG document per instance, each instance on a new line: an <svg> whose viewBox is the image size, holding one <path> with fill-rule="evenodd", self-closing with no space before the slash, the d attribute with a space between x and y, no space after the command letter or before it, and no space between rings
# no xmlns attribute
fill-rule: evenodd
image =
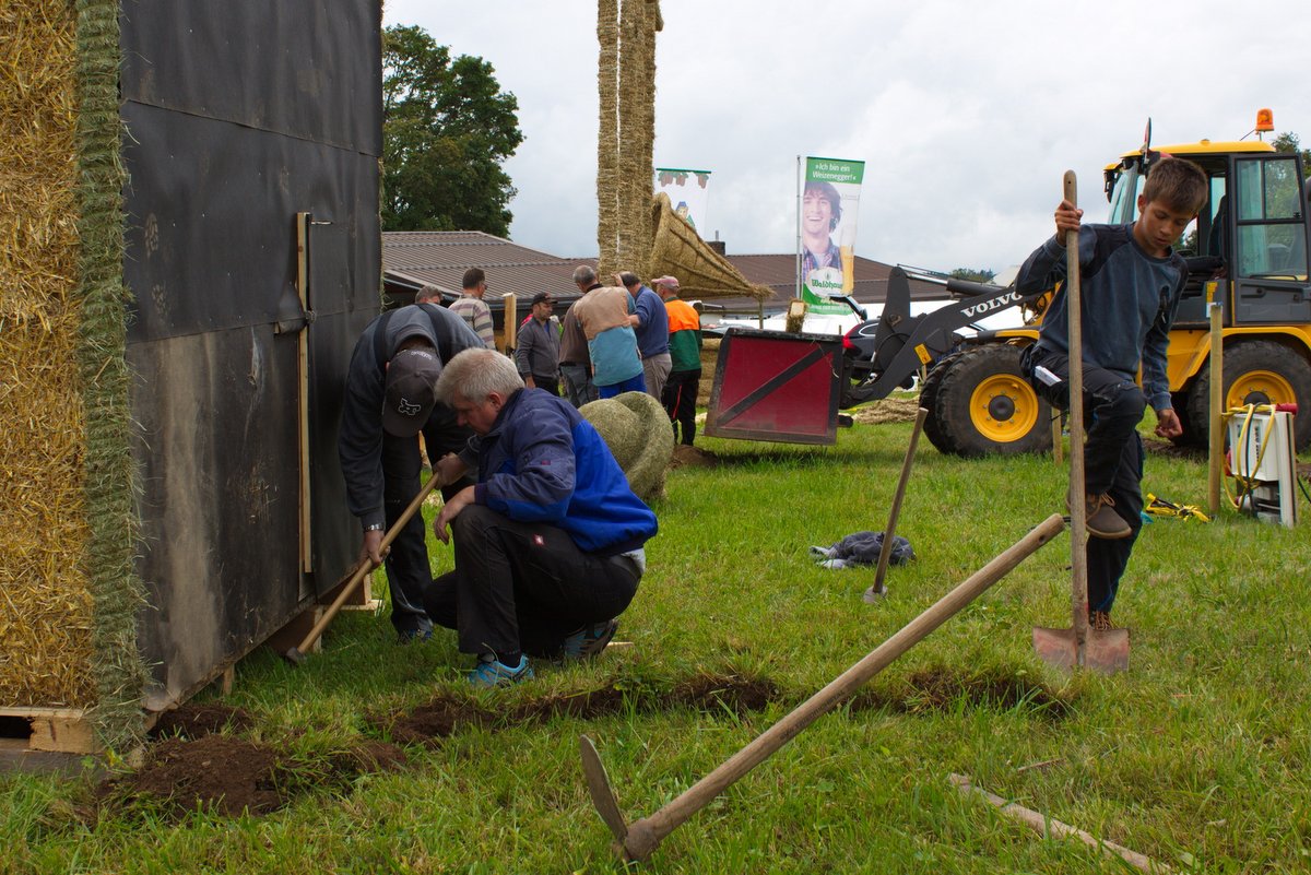
<svg viewBox="0 0 1311 875"><path fill-rule="evenodd" d="M832 444L842 339L732 329L720 346L705 434Z"/></svg>

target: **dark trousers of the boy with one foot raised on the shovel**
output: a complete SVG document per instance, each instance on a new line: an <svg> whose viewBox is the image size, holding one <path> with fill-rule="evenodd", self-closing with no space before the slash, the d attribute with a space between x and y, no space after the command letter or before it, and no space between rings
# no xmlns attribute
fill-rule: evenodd
<svg viewBox="0 0 1311 875"><path fill-rule="evenodd" d="M1062 410L1070 409L1070 356L1030 346L1025 350L1023 368L1040 396ZM1050 382L1040 368L1058 381ZM1089 495L1109 495L1116 513L1133 529L1126 538L1088 538L1088 609L1110 613L1143 525L1145 453L1138 423L1147 402L1134 382L1087 363L1083 386L1084 419L1091 423L1084 441L1084 489Z"/></svg>

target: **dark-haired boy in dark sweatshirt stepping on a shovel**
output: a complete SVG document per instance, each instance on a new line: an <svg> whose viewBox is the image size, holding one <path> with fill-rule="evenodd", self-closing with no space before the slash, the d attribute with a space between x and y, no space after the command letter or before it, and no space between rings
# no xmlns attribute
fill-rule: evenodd
<svg viewBox="0 0 1311 875"><path fill-rule="evenodd" d="M1082 225L1083 210L1062 200L1057 234L1038 246L1016 278L1020 293L1061 283L1042 317L1038 342L1023 367L1050 403L1070 406L1070 334L1066 313L1067 232L1079 234L1083 326L1083 403L1089 414L1084 444L1088 540L1088 622L1110 629L1110 608L1142 528L1143 447L1138 422L1150 403L1156 434L1183 434L1171 405L1165 347L1188 279L1171 250L1206 202L1206 174L1196 164L1163 157L1147 176L1131 225ZM1135 375L1142 367L1142 388Z"/></svg>

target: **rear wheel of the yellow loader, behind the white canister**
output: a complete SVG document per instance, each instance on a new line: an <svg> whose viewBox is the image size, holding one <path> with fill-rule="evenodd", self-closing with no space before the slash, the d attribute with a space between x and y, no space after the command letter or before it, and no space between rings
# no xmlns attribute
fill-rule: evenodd
<svg viewBox="0 0 1311 875"><path fill-rule="evenodd" d="M1188 388L1188 423L1200 445L1210 435L1210 365ZM1224 347L1224 410L1249 403L1297 403L1294 440L1298 451L1311 447L1311 364L1274 341L1240 341Z"/></svg>

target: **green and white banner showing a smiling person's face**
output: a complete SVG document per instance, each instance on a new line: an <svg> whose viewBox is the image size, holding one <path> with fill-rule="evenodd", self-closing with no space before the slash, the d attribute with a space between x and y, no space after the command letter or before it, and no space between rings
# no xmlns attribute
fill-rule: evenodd
<svg viewBox="0 0 1311 875"><path fill-rule="evenodd" d="M850 313L864 161L808 157L797 215L797 284L810 313Z"/></svg>

